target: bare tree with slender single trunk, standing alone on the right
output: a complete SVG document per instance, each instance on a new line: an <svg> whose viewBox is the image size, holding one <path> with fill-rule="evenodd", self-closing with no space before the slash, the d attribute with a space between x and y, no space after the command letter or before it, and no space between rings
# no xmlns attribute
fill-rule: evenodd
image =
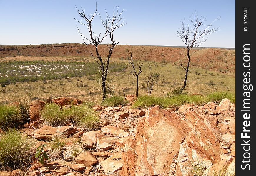
<svg viewBox="0 0 256 176"><path fill-rule="evenodd" d="M187 48L187 67L185 68L182 64L180 64L186 71L184 84L182 86L182 90L185 89L187 84L187 74L189 70L189 63L190 63L190 49L194 46L199 46L204 43L207 38L206 35L209 35L218 30L218 28L212 28L212 24L220 19L220 16L216 18L212 23L205 24L205 19L202 16L198 17L197 12L193 13L190 18L188 19L188 23L185 20L181 21L182 28L177 30L179 38L183 41Z"/></svg>

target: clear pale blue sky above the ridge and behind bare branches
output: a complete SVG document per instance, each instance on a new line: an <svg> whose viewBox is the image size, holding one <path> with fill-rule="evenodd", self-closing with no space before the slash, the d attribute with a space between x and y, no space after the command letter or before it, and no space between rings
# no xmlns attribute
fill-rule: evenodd
<svg viewBox="0 0 256 176"><path fill-rule="evenodd" d="M113 13L113 6L126 9L126 25L114 34L120 44L184 46L177 37L180 21L195 11L220 30L208 36L203 47L235 47L235 0L98 0L101 15ZM87 36L86 26L75 6L87 14L95 11L95 0L0 0L0 45L83 43L77 26ZM102 29L95 19L94 29ZM105 40L104 43L107 43Z"/></svg>

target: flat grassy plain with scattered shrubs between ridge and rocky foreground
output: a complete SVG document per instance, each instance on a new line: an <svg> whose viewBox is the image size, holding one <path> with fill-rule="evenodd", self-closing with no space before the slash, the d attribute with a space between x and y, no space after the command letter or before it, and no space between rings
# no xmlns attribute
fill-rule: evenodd
<svg viewBox="0 0 256 176"><path fill-rule="evenodd" d="M13 62L11 65L16 66L15 68L10 67L11 62ZM147 84L145 83L144 77L150 72L160 72L159 80L154 85L151 95L165 96L175 87L183 85L185 71L178 64L175 65L174 63L164 61L142 62L143 71L139 76L139 96L147 95ZM9 65L6 65L7 63ZM27 65L26 67L24 67L25 63ZM42 66L41 70L33 71L32 69L31 71L29 68L35 68L35 66L31 65L45 66ZM54 67L52 67L53 65ZM124 58L112 58L110 65L111 67L107 77L109 90L114 91L114 95L122 96L122 88L126 94L135 94L136 79L130 73L132 67L129 65L128 60ZM26 71L25 68L31 71L29 73L31 77L37 77L37 81L19 82L18 80L16 83L6 84L4 87L1 87L0 104L6 104L12 101L29 103L33 99L45 101L47 98L60 96L76 97L83 101L93 101L94 103L101 102L102 93L101 82L97 75L98 66L92 57L7 57L1 58L0 66L1 78L25 77L24 75L26 74L22 72ZM8 69L10 72L6 75ZM63 76L63 74L66 75ZM56 75L57 77L47 78L47 75ZM234 75L197 68L192 64L186 86L188 94L200 93L206 95L209 92L223 90L235 93Z"/></svg>

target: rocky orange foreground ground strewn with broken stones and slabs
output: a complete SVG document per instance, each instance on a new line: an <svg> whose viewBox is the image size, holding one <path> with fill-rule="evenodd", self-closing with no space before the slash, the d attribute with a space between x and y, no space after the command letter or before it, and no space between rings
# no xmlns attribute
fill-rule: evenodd
<svg viewBox="0 0 256 176"><path fill-rule="evenodd" d="M64 105L63 99L58 99L59 104ZM131 104L132 100L124 107L94 106L103 121L102 128L84 132L74 126L39 124L44 102L32 101L30 118L33 120L23 125L21 131L33 138L34 150L41 143L49 144L46 139L56 134L67 136L66 147L63 156L58 156L47 145L45 150L51 162L42 166L35 160L22 174L189 176L195 175L195 166L203 165L205 175L214 176L214 172L235 175L235 105L228 99L204 106L185 104L177 111L159 109L157 105L131 109ZM79 155L72 158L74 148ZM0 171L1 176L20 173L21 170Z"/></svg>

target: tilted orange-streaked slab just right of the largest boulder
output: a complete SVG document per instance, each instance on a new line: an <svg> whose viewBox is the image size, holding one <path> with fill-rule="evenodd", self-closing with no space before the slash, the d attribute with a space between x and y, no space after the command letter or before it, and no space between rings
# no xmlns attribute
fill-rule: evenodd
<svg viewBox="0 0 256 176"><path fill-rule="evenodd" d="M185 113L185 121L192 129L180 145L177 158L176 176L189 175L191 161L201 160L204 163L215 164L220 159L220 142L205 125L204 120L194 111Z"/></svg>

